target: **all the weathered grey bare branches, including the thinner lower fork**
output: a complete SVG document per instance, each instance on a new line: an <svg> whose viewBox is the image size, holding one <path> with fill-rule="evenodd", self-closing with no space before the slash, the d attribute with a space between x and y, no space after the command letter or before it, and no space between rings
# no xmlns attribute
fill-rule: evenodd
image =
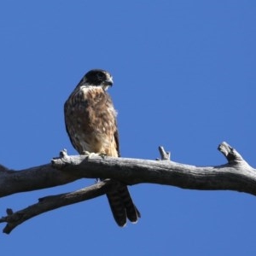
<svg viewBox="0 0 256 256"><path fill-rule="evenodd" d="M63 150L60 157L53 159L49 165L19 172L0 166L0 196L54 187L83 177L107 178L78 191L44 197L18 212L7 209L7 216L0 219L0 222L7 223L3 232L9 234L17 225L38 214L104 195L114 185L114 180L129 185L159 183L183 189L229 189L256 195L256 170L227 143L221 143L218 150L228 160L227 164L201 167L179 164L169 160L170 153L160 147L161 160L88 158L85 155L69 156Z"/></svg>

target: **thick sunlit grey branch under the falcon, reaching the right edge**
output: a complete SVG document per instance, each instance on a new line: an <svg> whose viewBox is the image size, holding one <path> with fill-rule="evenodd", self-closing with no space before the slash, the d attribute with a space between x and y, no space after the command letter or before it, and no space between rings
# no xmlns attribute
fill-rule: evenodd
<svg viewBox="0 0 256 256"><path fill-rule="evenodd" d="M189 166L169 160L64 156L52 160L62 172L79 177L114 178L123 183L159 183L183 189L236 190L256 195L256 170L249 166L236 149L221 143L218 150L228 164L222 166Z"/></svg>

